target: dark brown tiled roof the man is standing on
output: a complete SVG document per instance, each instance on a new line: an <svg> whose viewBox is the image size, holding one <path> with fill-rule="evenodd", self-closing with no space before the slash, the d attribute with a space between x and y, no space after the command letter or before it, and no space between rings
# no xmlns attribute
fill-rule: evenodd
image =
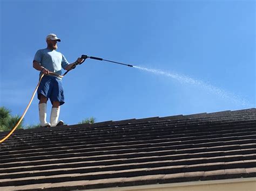
<svg viewBox="0 0 256 191"><path fill-rule="evenodd" d="M17 130L0 145L0 189L256 177L255 113L252 108Z"/></svg>

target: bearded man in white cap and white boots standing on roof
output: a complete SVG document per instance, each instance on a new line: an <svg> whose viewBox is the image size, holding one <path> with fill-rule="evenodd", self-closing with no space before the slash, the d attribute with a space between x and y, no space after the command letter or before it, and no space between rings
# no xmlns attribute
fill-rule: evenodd
<svg viewBox="0 0 256 191"><path fill-rule="evenodd" d="M33 59L33 68L41 71L40 75L44 74L37 90L39 119L40 125L43 127L64 124L63 121L58 121L60 105L65 103L62 79L58 75L62 74L62 68L70 70L73 65L83 61L78 58L76 62L69 63L62 53L56 51L57 41L60 42L60 39L56 34L49 34L46 37L47 48L39 49ZM51 75L51 73L55 73L55 75ZM49 98L52 103L50 123L46 122L46 103Z"/></svg>

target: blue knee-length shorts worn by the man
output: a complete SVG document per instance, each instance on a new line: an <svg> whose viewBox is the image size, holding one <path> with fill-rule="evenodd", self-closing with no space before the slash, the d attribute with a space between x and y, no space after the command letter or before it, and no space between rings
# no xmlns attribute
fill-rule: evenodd
<svg viewBox="0 0 256 191"><path fill-rule="evenodd" d="M44 76L39 87L37 89L37 98L40 100L40 96L44 95L47 100L50 98L51 103L53 101L59 102L60 105L64 104L64 90L62 87L62 81L57 77Z"/></svg>

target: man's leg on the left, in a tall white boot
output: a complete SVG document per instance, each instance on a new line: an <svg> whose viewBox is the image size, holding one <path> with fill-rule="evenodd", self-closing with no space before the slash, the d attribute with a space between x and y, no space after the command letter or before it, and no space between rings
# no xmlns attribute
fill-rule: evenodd
<svg viewBox="0 0 256 191"><path fill-rule="evenodd" d="M38 104L40 126L49 128L51 124L46 122L46 103L47 98L43 94L40 94L40 101Z"/></svg>

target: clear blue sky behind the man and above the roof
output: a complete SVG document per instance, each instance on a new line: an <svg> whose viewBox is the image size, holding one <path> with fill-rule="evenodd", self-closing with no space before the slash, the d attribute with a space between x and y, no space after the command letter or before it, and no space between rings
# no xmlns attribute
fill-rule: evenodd
<svg viewBox="0 0 256 191"><path fill-rule="evenodd" d="M69 62L86 54L151 69L86 60L63 79L68 124L255 107L255 1L0 2L0 105L13 115L36 87L32 60L49 33ZM39 123L36 97L24 122Z"/></svg>

